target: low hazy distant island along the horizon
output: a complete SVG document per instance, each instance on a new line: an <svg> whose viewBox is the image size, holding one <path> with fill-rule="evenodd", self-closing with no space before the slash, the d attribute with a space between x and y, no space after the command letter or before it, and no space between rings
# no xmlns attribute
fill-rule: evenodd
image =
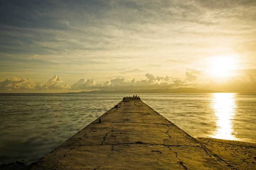
<svg viewBox="0 0 256 170"><path fill-rule="evenodd" d="M68 94L114 94L114 93L224 93L225 91L214 91L198 88L157 88L157 89L141 89L141 90L93 90L80 92L67 92ZM65 94L67 94L65 93Z"/></svg>

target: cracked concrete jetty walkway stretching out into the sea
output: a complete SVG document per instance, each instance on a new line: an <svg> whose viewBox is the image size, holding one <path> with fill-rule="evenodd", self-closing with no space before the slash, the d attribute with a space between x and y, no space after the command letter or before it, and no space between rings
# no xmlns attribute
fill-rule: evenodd
<svg viewBox="0 0 256 170"><path fill-rule="evenodd" d="M139 98L131 97L124 98L32 169L227 170L230 167Z"/></svg>

